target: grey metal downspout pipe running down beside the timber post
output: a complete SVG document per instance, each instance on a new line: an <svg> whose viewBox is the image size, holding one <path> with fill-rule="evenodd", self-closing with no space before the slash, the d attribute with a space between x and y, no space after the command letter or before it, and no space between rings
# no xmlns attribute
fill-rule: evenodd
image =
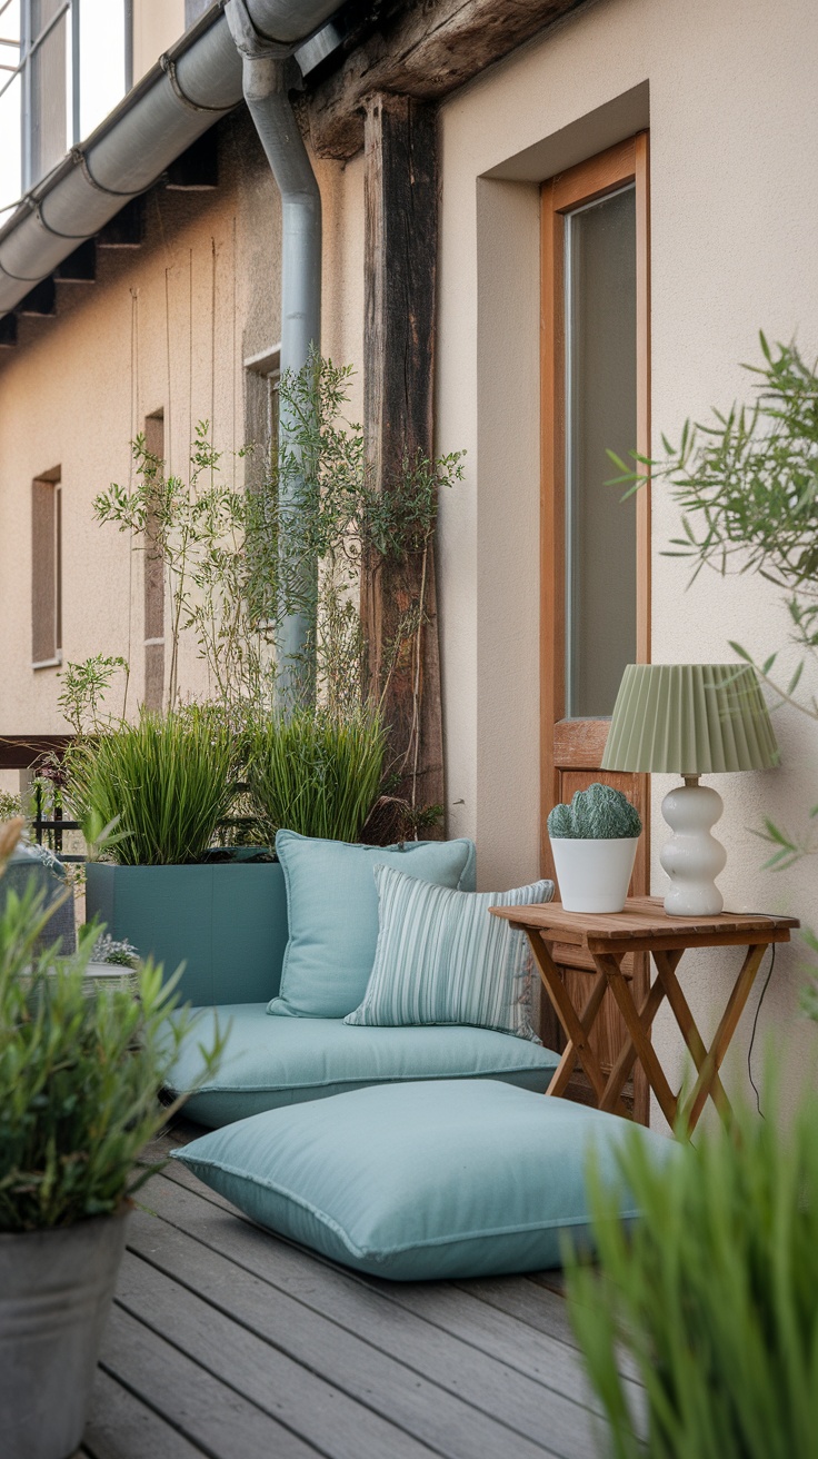
<svg viewBox="0 0 818 1459"><path fill-rule="evenodd" d="M321 347L321 194L287 96L292 44L260 35L245 0L229 0L225 16L242 57L245 101L281 194L280 363L281 374L297 374L306 365L311 347ZM306 34L309 20L303 12L300 23ZM292 422L284 411L278 432L281 445L292 451ZM287 562L287 519L297 511L299 483L280 483L278 490L278 552ZM281 614L276 639L276 702L280 709L315 697L318 563L303 563L299 570L303 607Z"/></svg>

